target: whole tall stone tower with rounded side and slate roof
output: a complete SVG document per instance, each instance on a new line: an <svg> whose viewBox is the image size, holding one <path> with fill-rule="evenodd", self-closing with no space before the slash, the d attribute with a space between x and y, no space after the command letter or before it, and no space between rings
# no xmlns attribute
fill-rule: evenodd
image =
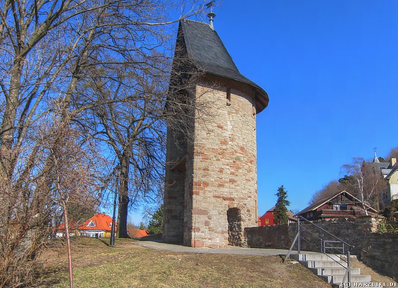
<svg viewBox="0 0 398 288"><path fill-rule="evenodd" d="M189 61L182 63L177 53ZM168 125L163 240L240 246L244 227L257 225L256 114L267 107L268 95L240 74L207 23L180 21L176 55L171 83L191 83L177 92L179 101L205 103L206 113L195 110L187 117L192 138ZM187 66L199 74L181 72Z"/></svg>

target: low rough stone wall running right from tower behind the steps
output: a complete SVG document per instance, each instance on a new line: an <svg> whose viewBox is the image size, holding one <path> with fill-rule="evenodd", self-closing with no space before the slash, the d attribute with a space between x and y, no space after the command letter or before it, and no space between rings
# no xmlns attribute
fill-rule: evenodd
<svg viewBox="0 0 398 288"><path fill-rule="evenodd" d="M373 269L398 279L398 235L377 233L377 225L382 217L359 216L348 219L313 221L329 233L354 245L352 255ZM301 222L302 230L309 232L302 236L313 245L301 240L301 250L319 251L321 237L334 240L331 236L307 222ZM297 234L297 223L245 228L245 244L250 248L289 249ZM334 244L336 245L336 244ZM297 249L297 244L294 247Z"/></svg>

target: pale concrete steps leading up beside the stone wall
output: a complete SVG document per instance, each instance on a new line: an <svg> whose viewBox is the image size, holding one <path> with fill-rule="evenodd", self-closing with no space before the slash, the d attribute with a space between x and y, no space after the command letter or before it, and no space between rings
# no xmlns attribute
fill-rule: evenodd
<svg viewBox="0 0 398 288"><path fill-rule="evenodd" d="M312 273L327 283L340 285L347 270L347 262L342 261L344 255L335 254L292 254L290 258L297 260L307 267ZM361 275L359 268L351 268L351 286L353 283L370 282L370 275ZM341 287L341 286L340 286Z"/></svg>

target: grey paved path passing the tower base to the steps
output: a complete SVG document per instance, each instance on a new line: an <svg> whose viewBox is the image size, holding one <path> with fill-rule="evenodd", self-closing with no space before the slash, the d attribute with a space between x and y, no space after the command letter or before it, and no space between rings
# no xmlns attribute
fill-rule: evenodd
<svg viewBox="0 0 398 288"><path fill-rule="evenodd" d="M260 249L260 248L241 248L230 246L228 248L192 248L182 245L167 244L153 241L138 241L134 244L161 250L174 252L190 252L205 254L241 254L241 255L286 255L287 249Z"/></svg>

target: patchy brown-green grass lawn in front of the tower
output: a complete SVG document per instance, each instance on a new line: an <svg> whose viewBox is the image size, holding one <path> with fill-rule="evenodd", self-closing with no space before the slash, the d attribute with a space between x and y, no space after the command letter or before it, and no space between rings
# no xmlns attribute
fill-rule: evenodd
<svg viewBox="0 0 398 288"><path fill-rule="evenodd" d="M176 253L130 239L116 239L116 247L93 238L72 245L75 287L331 287L277 256ZM50 244L40 263L35 287L69 287L62 242Z"/></svg>

